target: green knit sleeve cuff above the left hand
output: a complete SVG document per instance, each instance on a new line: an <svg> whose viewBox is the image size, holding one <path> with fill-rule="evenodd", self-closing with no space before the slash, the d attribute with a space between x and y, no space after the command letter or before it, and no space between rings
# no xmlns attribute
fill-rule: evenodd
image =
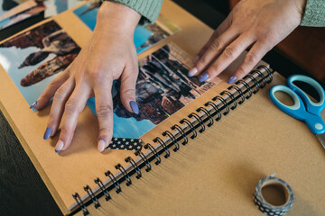
<svg viewBox="0 0 325 216"><path fill-rule="evenodd" d="M154 23L162 9L163 0L113 0L125 4L142 15L141 24Z"/></svg>

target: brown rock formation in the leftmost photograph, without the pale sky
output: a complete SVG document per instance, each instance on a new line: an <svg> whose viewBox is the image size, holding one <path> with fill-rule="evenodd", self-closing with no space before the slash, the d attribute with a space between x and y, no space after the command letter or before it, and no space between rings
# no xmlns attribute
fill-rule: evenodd
<svg viewBox="0 0 325 216"><path fill-rule="evenodd" d="M5 41L3 44L0 44L0 49L13 46L19 49L26 49L28 47L39 49L25 57L17 69L35 66L45 58L48 58L50 54L55 56L24 76L20 82L22 86L34 85L46 77L63 71L77 57L80 50L79 46L70 38L67 32L63 31L54 21L44 23L31 31L24 32L11 40Z"/></svg>

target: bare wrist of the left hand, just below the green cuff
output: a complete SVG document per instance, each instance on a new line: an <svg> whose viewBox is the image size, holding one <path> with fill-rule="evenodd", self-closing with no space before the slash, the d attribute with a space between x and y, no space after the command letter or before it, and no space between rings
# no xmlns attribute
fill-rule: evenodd
<svg viewBox="0 0 325 216"><path fill-rule="evenodd" d="M133 33L140 19L141 14L132 8L124 4L104 1L98 10L95 30L104 28L116 33Z"/></svg>

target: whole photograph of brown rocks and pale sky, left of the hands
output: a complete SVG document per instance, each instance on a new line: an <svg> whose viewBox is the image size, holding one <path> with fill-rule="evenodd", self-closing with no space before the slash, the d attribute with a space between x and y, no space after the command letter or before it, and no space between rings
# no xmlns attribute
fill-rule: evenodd
<svg viewBox="0 0 325 216"><path fill-rule="evenodd" d="M67 32L51 21L0 44L0 64L31 104L79 50Z"/></svg>

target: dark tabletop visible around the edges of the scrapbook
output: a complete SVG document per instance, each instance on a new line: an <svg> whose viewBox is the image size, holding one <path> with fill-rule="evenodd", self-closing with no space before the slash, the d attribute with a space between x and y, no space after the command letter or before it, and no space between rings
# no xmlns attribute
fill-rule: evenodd
<svg viewBox="0 0 325 216"><path fill-rule="evenodd" d="M218 4L211 0L175 0L174 2L213 29L217 28L228 14L228 1L218 1L224 2ZM40 14L0 31L0 40L42 20L43 14ZM286 71L308 74L276 50L270 51L264 59L283 76L290 75ZM0 112L0 216L2 215L62 215L62 213L3 113Z"/></svg>

